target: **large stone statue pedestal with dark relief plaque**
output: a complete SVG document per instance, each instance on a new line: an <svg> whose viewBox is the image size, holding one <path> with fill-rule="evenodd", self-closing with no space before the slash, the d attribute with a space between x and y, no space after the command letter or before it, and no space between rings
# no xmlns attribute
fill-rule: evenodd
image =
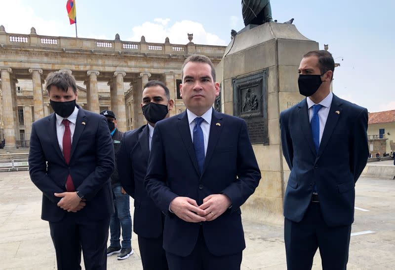
<svg viewBox="0 0 395 270"><path fill-rule="evenodd" d="M298 67L305 53L317 49L318 43L300 34L294 25L271 22L237 34L217 65L222 110L252 123L249 133L262 173L255 193L242 206L244 217L283 223L289 169L282 157L279 113L303 99L297 84ZM262 128L262 132L254 128Z"/></svg>

